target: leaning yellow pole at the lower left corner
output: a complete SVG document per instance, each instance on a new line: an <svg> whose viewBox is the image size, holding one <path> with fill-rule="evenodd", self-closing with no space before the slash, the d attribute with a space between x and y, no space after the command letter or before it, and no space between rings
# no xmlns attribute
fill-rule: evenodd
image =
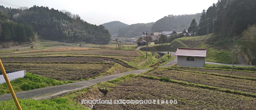
<svg viewBox="0 0 256 110"><path fill-rule="evenodd" d="M7 76L7 74L6 74L5 70L4 70L4 66L2 64L1 59L0 59L0 69L2 71L2 74L4 75L4 79L5 79L5 81L6 81L7 85L8 85L8 88L9 88L11 94L12 94L12 98L13 98L13 100L14 100L17 108L18 108L18 110L22 110L21 107L20 107L20 103L18 102L18 100L16 98L16 95L15 95L13 89L12 89L12 85L11 85L9 79L8 79L8 76Z"/></svg>

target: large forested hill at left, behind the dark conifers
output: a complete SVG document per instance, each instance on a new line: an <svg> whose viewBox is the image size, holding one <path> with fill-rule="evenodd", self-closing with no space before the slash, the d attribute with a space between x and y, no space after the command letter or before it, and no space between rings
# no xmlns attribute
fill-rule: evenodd
<svg viewBox="0 0 256 110"><path fill-rule="evenodd" d="M67 42L105 42L110 41L110 34L104 26L96 26L82 20L78 14L66 10L59 11L48 7L12 9L0 6L0 11L8 14L16 23L30 25L44 39Z"/></svg>

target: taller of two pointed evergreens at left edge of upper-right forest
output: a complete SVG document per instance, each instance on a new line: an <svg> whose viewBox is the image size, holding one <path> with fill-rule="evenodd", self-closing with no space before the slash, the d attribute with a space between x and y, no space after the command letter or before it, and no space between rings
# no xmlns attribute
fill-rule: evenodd
<svg viewBox="0 0 256 110"><path fill-rule="evenodd" d="M205 10L203 10L201 17L200 17L200 21L198 24L198 35L202 36L202 35L206 35L206 29L207 29L207 18L206 18L206 12Z"/></svg>

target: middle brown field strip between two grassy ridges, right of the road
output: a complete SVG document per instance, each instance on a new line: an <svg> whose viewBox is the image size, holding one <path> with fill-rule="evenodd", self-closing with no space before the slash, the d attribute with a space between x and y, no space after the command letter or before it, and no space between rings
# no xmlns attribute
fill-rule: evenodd
<svg viewBox="0 0 256 110"><path fill-rule="evenodd" d="M159 78L170 78L194 84L203 84L242 92L256 93L256 81L254 80L228 78L195 72L167 70L164 68L155 69L154 71L148 72L145 75L156 76Z"/></svg>

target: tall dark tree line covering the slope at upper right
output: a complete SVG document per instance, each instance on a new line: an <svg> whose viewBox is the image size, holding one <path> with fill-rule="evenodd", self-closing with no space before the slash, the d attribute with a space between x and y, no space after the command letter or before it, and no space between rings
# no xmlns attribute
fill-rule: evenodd
<svg viewBox="0 0 256 110"><path fill-rule="evenodd" d="M218 0L203 10L199 24L193 19L188 32L193 36L216 33L218 37L240 35L256 23L256 0Z"/></svg>

